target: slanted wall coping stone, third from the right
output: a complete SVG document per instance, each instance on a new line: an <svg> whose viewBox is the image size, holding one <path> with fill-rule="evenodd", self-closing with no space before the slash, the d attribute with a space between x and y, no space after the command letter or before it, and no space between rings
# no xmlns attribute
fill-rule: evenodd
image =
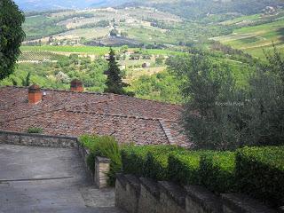
<svg viewBox="0 0 284 213"><path fill-rule="evenodd" d="M185 189L169 181L159 181L158 185L163 193L170 196L177 204L185 209Z"/></svg>

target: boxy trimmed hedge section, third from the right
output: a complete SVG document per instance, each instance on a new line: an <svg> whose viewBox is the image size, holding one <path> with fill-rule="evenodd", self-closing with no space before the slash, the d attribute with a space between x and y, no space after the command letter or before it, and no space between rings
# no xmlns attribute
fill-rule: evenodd
<svg viewBox="0 0 284 213"><path fill-rule="evenodd" d="M169 178L181 185L200 185L201 152L170 154Z"/></svg>

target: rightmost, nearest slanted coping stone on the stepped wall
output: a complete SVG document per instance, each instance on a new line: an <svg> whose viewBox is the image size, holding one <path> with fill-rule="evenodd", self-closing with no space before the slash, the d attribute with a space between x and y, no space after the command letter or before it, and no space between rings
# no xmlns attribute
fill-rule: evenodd
<svg viewBox="0 0 284 213"><path fill-rule="evenodd" d="M276 213L274 209L269 209L263 203L256 201L241 193L223 193L222 201L230 209L237 213Z"/></svg>

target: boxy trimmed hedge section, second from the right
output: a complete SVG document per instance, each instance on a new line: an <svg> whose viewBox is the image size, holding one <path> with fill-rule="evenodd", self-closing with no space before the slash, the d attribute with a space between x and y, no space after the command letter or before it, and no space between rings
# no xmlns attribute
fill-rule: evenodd
<svg viewBox="0 0 284 213"><path fill-rule="evenodd" d="M201 185L217 193L236 191L235 154L217 152L201 154Z"/></svg>

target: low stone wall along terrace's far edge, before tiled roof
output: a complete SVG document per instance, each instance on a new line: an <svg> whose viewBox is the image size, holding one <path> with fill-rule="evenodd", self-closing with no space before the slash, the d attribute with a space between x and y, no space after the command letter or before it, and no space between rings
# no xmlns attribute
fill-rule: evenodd
<svg viewBox="0 0 284 213"><path fill-rule="evenodd" d="M0 144L42 147L75 147L77 138L0 130Z"/></svg>

